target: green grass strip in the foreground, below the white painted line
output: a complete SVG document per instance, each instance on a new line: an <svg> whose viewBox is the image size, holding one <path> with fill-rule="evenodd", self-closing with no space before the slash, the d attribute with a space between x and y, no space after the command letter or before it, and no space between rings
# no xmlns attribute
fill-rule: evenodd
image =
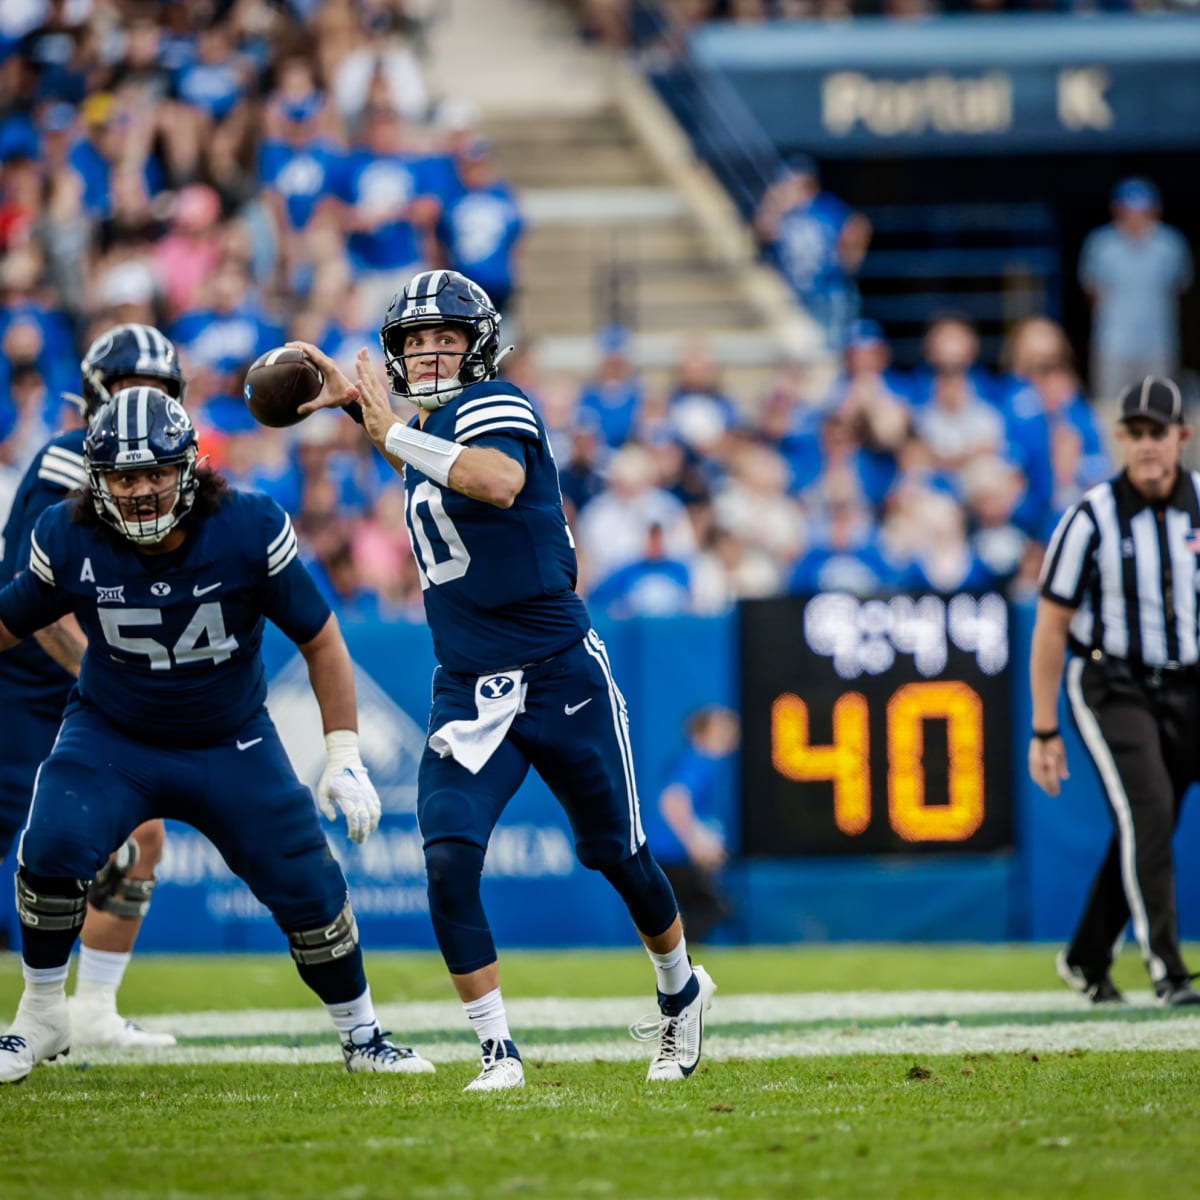
<svg viewBox="0 0 1200 1200"><path fill-rule="evenodd" d="M0 1092L0 1194L1178 1196L1195 1060L722 1063L656 1090L632 1066L569 1064L492 1097L450 1070L40 1070Z"/></svg>

